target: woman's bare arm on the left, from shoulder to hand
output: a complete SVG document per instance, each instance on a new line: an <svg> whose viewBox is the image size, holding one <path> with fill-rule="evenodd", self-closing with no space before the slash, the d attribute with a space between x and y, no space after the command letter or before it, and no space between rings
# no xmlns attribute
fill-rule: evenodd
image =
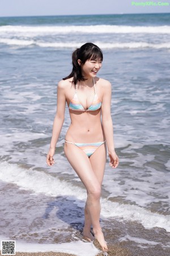
<svg viewBox="0 0 170 256"><path fill-rule="evenodd" d="M53 123L52 139L50 142L49 152L46 156L46 163L49 166L54 164L53 155L59 134L62 129L63 121L65 119L66 96L65 96L65 81L60 81L57 86L57 112Z"/></svg>

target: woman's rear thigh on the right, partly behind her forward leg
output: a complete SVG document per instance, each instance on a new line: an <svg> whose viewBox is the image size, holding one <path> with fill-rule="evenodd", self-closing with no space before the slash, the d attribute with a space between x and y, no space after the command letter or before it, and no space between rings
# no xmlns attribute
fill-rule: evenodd
<svg viewBox="0 0 170 256"><path fill-rule="evenodd" d="M102 144L100 147L96 149L94 154L90 157L90 163L94 174L99 181L100 185L103 181L104 170L105 170L105 162L107 157L107 146L106 144Z"/></svg>

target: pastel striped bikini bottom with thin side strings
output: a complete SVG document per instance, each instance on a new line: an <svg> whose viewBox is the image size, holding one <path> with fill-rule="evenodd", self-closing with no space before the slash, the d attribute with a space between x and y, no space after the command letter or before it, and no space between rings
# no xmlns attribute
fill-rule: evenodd
<svg viewBox="0 0 170 256"><path fill-rule="evenodd" d="M65 141L66 143L74 144L75 146L79 147L81 150L84 151L84 153L90 158L92 154L97 150L98 147L103 145L105 141L103 142L96 142L96 143L74 143L70 141Z"/></svg>

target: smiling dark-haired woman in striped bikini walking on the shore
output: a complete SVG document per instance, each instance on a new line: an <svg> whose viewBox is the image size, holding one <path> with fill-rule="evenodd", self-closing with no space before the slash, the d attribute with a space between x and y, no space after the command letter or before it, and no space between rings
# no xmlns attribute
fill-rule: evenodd
<svg viewBox="0 0 170 256"><path fill-rule="evenodd" d="M54 164L53 155L63 125L67 102L71 124L66 133L64 151L87 189L83 236L90 241L95 237L102 249L107 251L107 243L100 227L100 193L107 147L110 166L118 166L113 143L111 84L97 77L103 53L95 44L86 43L76 49L72 59L73 71L58 83L57 113L46 163L49 166ZM94 236L91 233L91 225Z"/></svg>

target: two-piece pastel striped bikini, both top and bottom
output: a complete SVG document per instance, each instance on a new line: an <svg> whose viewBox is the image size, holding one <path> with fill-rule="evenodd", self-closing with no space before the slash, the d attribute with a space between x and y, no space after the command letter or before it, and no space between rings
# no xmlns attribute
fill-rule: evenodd
<svg viewBox="0 0 170 256"><path fill-rule="evenodd" d="M89 111L95 111L97 109L101 108L101 101L99 100L97 94L96 94L96 88L95 88L95 81L94 81L94 100L92 101L92 104L88 109L84 109L82 104L80 103L77 95L77 85L75 85L75 93L73 99L70 101L69 109L74 111L81 111L81 112L89 112ZM99 148L103 142L96 142L96 143L76 143L76 142L70 142L65 141L66 143L74 144L75 146L79 147L83 152L90 158L92 154Z"/></svg>

